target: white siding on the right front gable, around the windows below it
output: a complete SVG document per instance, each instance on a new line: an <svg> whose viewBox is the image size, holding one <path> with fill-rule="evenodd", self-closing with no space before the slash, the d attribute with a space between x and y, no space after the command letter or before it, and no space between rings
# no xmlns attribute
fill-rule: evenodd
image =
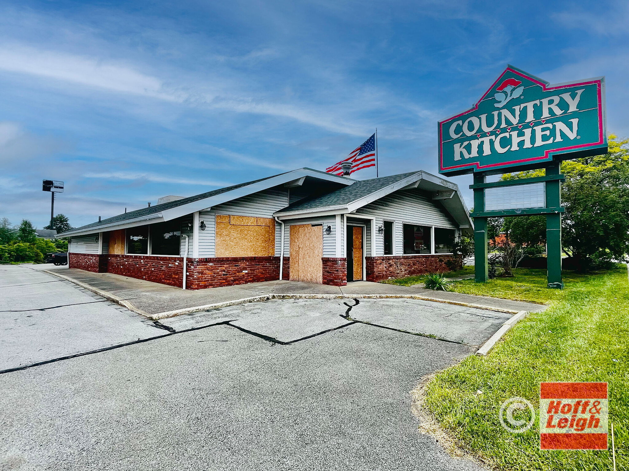
<svg viewBox="0 0 629 471"><path fill-rule="evenodd" d="M384 234L378 234L377 229L384 221L394 222L393 254L404 254L403 224L428 225L457 229L457 224L448 217L428 196L418 190L401 190L386 197L382 197L357 210L356 215L365 214L376 217L376 250L375 256L384 255ZM367 239L367 247L369 241ZM368 249L369 250L369 249Z"/></svg>

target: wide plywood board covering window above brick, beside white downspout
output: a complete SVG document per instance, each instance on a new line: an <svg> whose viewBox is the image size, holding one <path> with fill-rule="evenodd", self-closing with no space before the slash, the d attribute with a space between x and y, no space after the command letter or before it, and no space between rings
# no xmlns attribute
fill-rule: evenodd
<svg viewBox="0 0 629 471"><path fill-rule="evenodd" d="M216 215L217 257L275 255L275 220L266 217Z"/></svg>

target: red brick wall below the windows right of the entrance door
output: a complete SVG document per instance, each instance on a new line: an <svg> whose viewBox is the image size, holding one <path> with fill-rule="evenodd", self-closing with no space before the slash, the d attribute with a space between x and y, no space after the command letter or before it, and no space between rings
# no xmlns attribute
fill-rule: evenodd
<svg viewBox="0 0 629 471"><path fill-rule="evenodd" d="M445 262L451 255L404 255L365 257L367 281L404 278L425 273L450 271Z"/></svg>

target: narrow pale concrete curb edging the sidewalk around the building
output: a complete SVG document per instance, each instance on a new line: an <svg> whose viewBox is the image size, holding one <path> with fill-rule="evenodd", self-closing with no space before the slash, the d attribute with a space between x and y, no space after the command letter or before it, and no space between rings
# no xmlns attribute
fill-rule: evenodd
<svg viewBox="0 0 629 471"><path fill-rule="evenodd" d="M121 298L118 298L118 296L112 295L111 293L108 293L107 291L103 291L103 290L99 290L98 288L94 288L94 286L91 286L87 283L82 283L82 281L77 281L73 278L70 278L69 276L65 276L64 274L60 274L60 273L55 273L53 271L48 271L48 270L42 270L45 273L48 274L52 274L54 276L58 276L59 278L63 278L67 281L70 281L71 283L77 284L78 286L81 286L81 288L85 288L86 290L92 291L92 293L96 293L99 296L103 296L103 298L105 298L106 300L112 301L113 303L119 304L121 306L124 306L125 308L127 308L128 310L131 310L135 313L138 313L150 320L160 320L160 319L165 319L165 318L169 318L169 317L176 317L176 316L180 316L183 314L191 314L194 312L199 312L199 311L207 311L207 310L211 310L211 309L220 309L220 308L225 308L228 306L236 306L239 304L245 304L245 303L255 303L257 301L269 301L269 300L289 300L289 299L302 299L302 300L308 300L308 299L314 299L314 300L341 300L341 299L365 299L365 300L369 300L369 299L409 299L409 300L421 300L421 301L432 301L435 303L445 303L445 304L452 304L455 306L464 306L464 307L468 307L468 308L476 308L476 309L482 309L482 310L487 310L487 311L496 311L496 312L502 312L502 313L506 313L506 314L517 314L518 311L514 311L514 310L509 310L509 309L503 309L503 308L497 308L494 306L484 306L481 304L474 304L474 303L464 303L462 301L451 301L451 300L443 300L440 298L431 298L430 296L420 296L420 295L355 295L352 293L346 293L344 295L317 295L317 294L312 294L312 295L300 295L300 294L269 294L269 295L260 295L260 296L252 296L251 298L241 298L239 300L231 300L231 301L223 301L221 303L214 303L214 304L206 304L206 305L202 305L202 306L193 306L191 308L184 308L184 309L177 309L174 311L164 311L164 312L160 312L157 314L149 314L147 313L147 311L143 311L142 309L138 309L136 308L136 306L134 306L132 303L130 303L129 301L123 300ZM524 312L524 311L521 311ZM513 319L513 318L512 318ZM509 321L508 321L509 322ZM492 337L493 338L493 337ZM491 339L490 339L491 340Z"/></svg>

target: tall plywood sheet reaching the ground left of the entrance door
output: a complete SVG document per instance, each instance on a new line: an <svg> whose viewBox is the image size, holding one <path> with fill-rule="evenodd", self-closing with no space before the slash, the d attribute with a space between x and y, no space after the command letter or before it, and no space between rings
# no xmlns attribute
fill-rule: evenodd
<svg viewBox="0 0 629 471"><path fill-rule="evenodd" d="M323 283L323 226L291 225L291 281Z"/></svg>

